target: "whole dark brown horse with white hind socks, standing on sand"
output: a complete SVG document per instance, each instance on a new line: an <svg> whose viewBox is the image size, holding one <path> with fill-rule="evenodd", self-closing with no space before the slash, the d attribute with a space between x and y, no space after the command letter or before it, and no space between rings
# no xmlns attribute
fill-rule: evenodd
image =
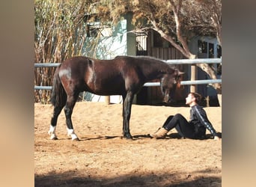
<svg viewBox="0 0 256 187"><path fill-rule="evenodd" d="M170 64L144 56L117 56L112 60L69 58L55 70L51 98L54 111L49 135L51 139L57 139L57 119L64 108L68 135L72 140L79 140L73 130L71 115L79 93L88 91L102 96L123 97L123 135L125 138L132 138L129 119L135 93L140 91L145 82L161 79L164 102L169 102L180 74L182 73Z"/></svg>

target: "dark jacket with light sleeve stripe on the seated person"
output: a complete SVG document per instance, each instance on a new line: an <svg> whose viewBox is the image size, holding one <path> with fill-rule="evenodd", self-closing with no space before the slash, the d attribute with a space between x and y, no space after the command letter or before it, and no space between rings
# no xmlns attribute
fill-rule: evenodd
<svg viewBox="0 0 256 187"><path fill-rule="evenodd" d="M204 108L200 105L193 105L191 107L189 123L195 126L195 133L198 138L204 138L206 129L208 129L213 136L217 135L216 130L207 118Z"/></svg>

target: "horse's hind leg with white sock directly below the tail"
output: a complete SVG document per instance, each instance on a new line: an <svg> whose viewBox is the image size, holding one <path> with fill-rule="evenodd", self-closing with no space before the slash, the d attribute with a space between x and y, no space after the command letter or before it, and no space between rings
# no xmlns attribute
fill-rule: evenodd
<svg viewBox="0 0 256 187"><path fill-rule="evenodd" d="M53 109L53 115L52 115L52 120L51 120L51 125L48 134L51 135L51 140L57 140L57 135L56 135L56 125L57 125L57 120L58 120L58 115L61 113L62 108L64 107L65 104L61 105L55 105Z"/></svg>

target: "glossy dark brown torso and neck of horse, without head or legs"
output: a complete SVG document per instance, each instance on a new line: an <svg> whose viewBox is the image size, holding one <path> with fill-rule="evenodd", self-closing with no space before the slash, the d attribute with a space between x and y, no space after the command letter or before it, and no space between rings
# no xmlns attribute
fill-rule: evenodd
<svg viewBox="0 0 256 187"><path fill-rule="evenodd" d="M160 62L162 64L162 62ZM98 95L124 95L126 91L138 91L144 82L159 72L159 64L153 58L117 56L112 60L87 57L69 58L61 64L63 82L73 84L79 91Z"/></svg>

